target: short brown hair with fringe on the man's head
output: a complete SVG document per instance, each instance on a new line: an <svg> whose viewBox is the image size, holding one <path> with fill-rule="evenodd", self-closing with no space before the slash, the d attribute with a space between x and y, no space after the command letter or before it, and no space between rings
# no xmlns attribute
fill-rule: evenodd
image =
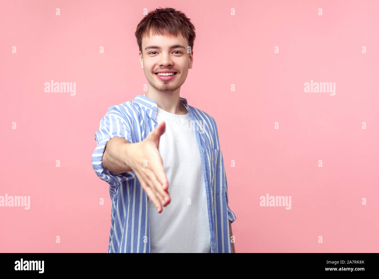
<svg viewBox="0 0 379 279"><path fill-rule="evenodd" d="M187 39L188 45L193 50L195 40L195 27L188 17L174 8L161 8L150 11L137 25L134 35L137 38L139 50L142 51L142 37L152 35L179 36Z"/></svg>

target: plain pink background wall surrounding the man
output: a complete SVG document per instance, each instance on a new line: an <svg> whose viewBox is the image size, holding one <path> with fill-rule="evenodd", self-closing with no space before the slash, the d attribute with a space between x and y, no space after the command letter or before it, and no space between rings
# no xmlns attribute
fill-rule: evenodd
<svg viewBox="0 0 379 279"><path fill-rule="evenodd" d="M0 195L31 201L0 207L0 252L107 251L94 134L108 107L146 93L134 32L159 6L196 27L180 96L217 122L236 252L378 252L377 1L2 1ZM76 95L45 93L51 79ZM311 79L336 95L304 93ZM261 207L266 194L291 210Z"/></svg>

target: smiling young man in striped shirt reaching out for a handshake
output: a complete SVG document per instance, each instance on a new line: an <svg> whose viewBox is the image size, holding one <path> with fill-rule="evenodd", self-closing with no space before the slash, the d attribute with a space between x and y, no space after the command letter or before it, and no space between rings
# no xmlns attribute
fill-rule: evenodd
<svg viewBox="0 0 379 279"><path fill-rule="evenodd" d="M112 200L109 253L234 252L216 121L179 95L194 29L172 8L141 20L147 92L111 106L95 134L92 166Z"/></svg>

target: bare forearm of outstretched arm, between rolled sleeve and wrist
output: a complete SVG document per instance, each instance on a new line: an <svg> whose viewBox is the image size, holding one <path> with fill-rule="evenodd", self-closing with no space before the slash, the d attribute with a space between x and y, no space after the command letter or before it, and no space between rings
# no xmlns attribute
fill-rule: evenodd
<svg viewBox="0 0 379 279"><path fill-rule="evenodd" d="M113 137L105 145L103 154L103 166L116 174L132 172L127 165L127 148L135 143L130 143L122 137Z"/></svg>

